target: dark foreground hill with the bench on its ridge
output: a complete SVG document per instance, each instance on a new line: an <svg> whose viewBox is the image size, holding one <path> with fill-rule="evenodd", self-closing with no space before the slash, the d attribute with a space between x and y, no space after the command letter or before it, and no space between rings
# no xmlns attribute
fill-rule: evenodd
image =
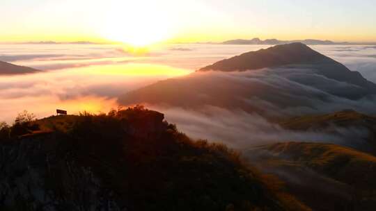
<svg viewBox="0 0 376 211"><path fill-rule="evenodd" d="M226 146L139 106L0 132L1 210L309 210Z"/></svg>

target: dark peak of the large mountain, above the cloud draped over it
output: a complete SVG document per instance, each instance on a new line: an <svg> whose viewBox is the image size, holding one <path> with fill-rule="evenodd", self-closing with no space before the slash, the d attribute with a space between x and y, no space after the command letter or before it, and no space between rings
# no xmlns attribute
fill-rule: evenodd
<svg viewBox="0 0 376 211"><path fill-rule="evenodd" d="M376 93L376 85L363 78L359 72L350 71L340 62L336 62L300 42L243 53L240 56L215 62L199 71L245 71L284 65L310 65L318 69L319 73L327 78L352 83Z"/></svg>

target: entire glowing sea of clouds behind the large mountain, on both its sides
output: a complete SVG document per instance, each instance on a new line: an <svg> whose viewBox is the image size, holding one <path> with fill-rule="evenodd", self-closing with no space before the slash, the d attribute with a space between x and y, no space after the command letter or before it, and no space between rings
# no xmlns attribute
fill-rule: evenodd
<svg viewBox="0 0 376 211"><path fill-rule="evenodd" d="M164 78L183 76L217 60L267 48L262 45L166 44L126 49L106 44L0 44L0 60L42 69L0 76L0 120L26 109L38 117L56 108L107 112L119 95ZM376 48L311 46L376 82Z"/></svg>

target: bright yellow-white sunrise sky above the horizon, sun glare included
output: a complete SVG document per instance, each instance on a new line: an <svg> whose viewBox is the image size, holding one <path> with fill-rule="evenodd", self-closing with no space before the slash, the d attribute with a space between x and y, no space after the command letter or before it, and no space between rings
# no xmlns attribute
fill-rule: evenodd
<svg viewBox="0 0 376 211"><path fill-rule="evenodd" d="M376 1L1 0L1 42L376 42Z"/></svg>

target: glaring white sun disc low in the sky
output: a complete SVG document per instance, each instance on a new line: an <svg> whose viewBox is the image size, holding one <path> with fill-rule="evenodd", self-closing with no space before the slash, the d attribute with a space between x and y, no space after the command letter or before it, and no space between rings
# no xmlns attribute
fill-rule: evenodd
<svg viewBox="0 0 376 211"><path fill-rule="evenodd" d="M171 37L171 22L158 11L150 5L143 5L141 1L132 5L118 5L107 14L101 27L102 36L134 47L167 40Z"/></svg>

